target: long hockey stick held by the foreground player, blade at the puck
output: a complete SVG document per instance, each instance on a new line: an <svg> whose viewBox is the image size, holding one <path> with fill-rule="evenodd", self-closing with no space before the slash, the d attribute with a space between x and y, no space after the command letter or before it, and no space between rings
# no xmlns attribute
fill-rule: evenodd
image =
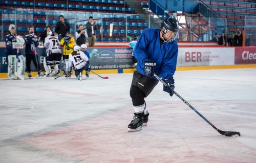
<svg viewBox="0 0 256 163"><path fill-rule="evenodd" d="M167 83L165 83L161 78L159 78L156 74L154 74L154 76L161 82L163 83L163 85L168 86ZM214 129L216 129L220 134L225 135L225 136L232 136L232 135L239 135L240 136L240 132L236 132L236 131L222 131L220 129L218 129L217 127L215 127L212 123L210 123L210 121L208 121L199 111L197 111L193 106L191 106L186 100L184 100L179 94L177 94L176 91L174 91L174 94L181 99L181 101L183 101L187 106L189 106L193 111L195 111L202 119L204 119L204 121L206 121L209 125L211 125L211 127L213 127Z"/></svg>

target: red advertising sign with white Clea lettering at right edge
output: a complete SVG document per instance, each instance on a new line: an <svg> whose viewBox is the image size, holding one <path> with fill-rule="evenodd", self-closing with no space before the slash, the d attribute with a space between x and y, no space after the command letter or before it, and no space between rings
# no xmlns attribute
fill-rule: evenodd
<svg viewBox="0 0 256 163"><path fill-rule="evenodd" d="M235 64L253 64L256 63L256 47L236 47L234 51Z"/></svg>

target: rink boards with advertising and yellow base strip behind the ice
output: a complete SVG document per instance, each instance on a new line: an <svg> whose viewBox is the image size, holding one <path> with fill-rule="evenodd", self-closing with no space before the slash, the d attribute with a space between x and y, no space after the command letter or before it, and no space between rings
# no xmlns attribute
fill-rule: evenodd
<svg viewBox="0 0 256 163"><path fill-rule="evenodd" d="M0 77L7 77L6 49L1 48L0 52ZM134 64L132 60L132 49L127 46L110 47L110 48L88 48L90 53L90 64L93 70L99 74L112 73L132 73ZM22 54L25 55L25 49L22 49ZM45 49L38 48L40 67L42 65ZM256 47L181 47L177 61L177 69L216 69L232 68L233 65L241 64L256 64ZM63 63L61 64L61 66ZM206 67L198 67L206 66ZM212 67L215 66L215 67ZM216 67L217 66L217 67ZM182 68L179 68L182 67ZM246 66L245 66L246 67ZM249 65L249 67L254 67ZM234 67L236 68L236 66ZM33 63L31 69L35 70Z"/></svg>

